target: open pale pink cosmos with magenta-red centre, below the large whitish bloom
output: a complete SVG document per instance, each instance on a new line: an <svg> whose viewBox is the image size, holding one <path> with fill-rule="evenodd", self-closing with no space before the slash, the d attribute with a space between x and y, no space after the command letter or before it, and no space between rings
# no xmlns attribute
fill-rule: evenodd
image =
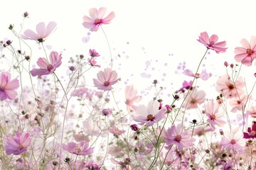
<svg viewBox="0 0 256 170"><path fill-rule="evenodd" d="M171 125L171 128L167 130L167 135L165 138L167 147L171 147L171 145L176 145L179 151L182 148L191 148L193 147L193 142L195 139L191 137L191 132L188 130L184 131L183 125L178 124L177 126Z"/></svg>

